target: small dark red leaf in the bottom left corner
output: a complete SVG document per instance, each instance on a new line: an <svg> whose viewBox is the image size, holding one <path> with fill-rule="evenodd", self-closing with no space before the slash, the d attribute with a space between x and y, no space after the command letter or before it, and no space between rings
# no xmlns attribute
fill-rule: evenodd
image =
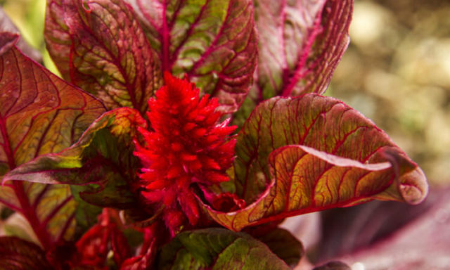
<svg viewBox="0 0 450 270"><path fill-rule="evenodd" d="M16 237L0 237L0 269L53 269L39 246Z"/></svg>

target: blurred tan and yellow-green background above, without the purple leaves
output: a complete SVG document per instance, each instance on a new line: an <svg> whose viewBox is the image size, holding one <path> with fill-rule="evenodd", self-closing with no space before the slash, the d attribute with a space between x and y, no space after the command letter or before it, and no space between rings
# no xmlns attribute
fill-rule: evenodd
<svg viewBox="0 0 450 270"><path fill-rule="evenodd" d="M55 71L42 37L45 0L0 4ZM327 95L387 131L432 185L450 183L450 1L356 0L350 36Z"/></svg>

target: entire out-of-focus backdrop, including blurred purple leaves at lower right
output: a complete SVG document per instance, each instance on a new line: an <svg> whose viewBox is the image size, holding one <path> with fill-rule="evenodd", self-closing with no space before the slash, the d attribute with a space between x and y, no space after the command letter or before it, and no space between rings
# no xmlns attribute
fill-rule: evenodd
<svg viewBox="0 0 450 270"><path fill-rule="evenodd" d="M0 5L57 72L42 37L45 0ZM349 34L326 95L387 131L423 168L432 192L417 207L373 202L288 219L285 227L302 240L310 262L342 259L353 270L450 269L450 0L355 0ZM311 269L309 262L303 266Z"/></svg>

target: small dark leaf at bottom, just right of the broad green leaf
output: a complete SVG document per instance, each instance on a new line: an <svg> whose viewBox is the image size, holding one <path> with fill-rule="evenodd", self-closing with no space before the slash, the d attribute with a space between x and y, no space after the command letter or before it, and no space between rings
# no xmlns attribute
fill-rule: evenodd
<svg viewBox="0 0 450 270"><path fill-rule="evenodd" d="M274 252L278 258L283 259L292 268L297 266L304 255L302 243L285 229L274 229L257 239L266 244L271 252Z"/></svg>

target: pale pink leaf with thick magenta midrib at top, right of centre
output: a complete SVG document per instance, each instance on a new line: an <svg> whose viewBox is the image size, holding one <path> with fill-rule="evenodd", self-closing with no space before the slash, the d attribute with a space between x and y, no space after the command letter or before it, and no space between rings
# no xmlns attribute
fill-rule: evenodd
<svg viewBox="0 0 450 270"><path fill-rule="evenodd" d="M322 94L349 44L353 0L254 0L262 98Z"/></svg>

